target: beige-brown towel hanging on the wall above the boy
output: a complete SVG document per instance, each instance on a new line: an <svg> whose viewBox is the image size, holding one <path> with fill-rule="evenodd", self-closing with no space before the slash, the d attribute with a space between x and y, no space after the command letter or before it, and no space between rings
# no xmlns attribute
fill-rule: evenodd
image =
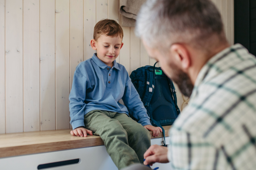
<svg viewBox="0 0 256 170"><path fill-rule="evenodd" d="M121 26L134 27L140 7L146 0L120 0L119 11L121 14Z"/></svg>

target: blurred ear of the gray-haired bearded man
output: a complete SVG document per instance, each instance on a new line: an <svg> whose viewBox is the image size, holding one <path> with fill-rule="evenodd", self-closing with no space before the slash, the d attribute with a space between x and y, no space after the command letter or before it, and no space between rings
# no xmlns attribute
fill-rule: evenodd
<svg viewBox="0 0 256 170"><path fill-rule="evenodd" d="M170 48L172 55L181 68L186 71L191 65L191 58L188 49L182 44L173 44Z"/></svg>

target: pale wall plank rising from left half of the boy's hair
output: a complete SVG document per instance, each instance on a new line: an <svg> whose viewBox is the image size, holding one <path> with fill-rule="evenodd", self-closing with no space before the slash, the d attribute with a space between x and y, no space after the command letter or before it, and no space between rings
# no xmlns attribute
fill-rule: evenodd
<svg viewBox="0 0 256 170"><path fill-rule="evenodd" d="M96 0L96 23L108 19L108 0Z"/></svg>

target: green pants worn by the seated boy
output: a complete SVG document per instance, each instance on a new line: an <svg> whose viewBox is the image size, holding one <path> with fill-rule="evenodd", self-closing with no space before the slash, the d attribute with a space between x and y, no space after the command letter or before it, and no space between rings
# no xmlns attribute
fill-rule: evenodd
<svg viewBox="0 0 256 170"><path fill-rule="evenodd" d="M151 146L149 131L125 113L90 111L84 125L101 137L118 169L143 163L143 154Z"/></svg>

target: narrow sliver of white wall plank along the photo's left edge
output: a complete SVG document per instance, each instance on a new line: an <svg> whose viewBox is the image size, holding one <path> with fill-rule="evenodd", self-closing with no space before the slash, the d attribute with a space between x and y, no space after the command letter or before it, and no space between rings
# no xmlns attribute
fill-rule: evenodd
<svg viewBox="0 0 256 170"><path fill-rule="evenodd" d="M5 116L5 0L0 0L0 133L6 133Z"/></svg>

